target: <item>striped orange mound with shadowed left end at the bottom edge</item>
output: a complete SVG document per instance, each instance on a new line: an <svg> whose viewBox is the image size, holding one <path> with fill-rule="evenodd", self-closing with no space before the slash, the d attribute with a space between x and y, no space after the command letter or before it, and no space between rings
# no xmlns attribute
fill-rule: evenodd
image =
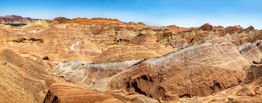
<svg viewBox="0 0 262 103"><path fill-rule="evenodd" d="M44 103L124 103L123 101L114 98L107 92L99 92L93 89L85 89L84 87L66 82L58 82L52 84L48 90L48 94L45 98Z"/></svg>

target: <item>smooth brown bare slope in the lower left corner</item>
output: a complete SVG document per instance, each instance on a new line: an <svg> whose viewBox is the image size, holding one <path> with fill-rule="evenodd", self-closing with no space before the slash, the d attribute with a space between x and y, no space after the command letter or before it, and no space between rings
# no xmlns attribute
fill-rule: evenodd
<svg viewBox="0 0 262 103"><path fill-rule="evenodd" d="M10 49L0 50L0 102L43 102L55 77L37 58L22 57Z"/></svg>

